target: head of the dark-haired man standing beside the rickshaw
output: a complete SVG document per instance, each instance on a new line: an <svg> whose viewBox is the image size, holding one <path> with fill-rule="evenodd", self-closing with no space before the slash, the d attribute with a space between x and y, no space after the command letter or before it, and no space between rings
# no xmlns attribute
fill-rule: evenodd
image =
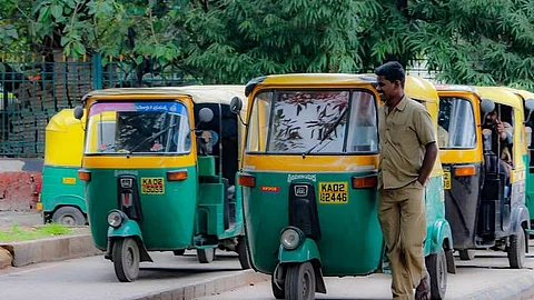
<svg viewBox="0 0 534 300"><path fill-rule="evenodd" d="M403 66L398 61L389 61L376 68L375 74L378 77L377 90L386 106L400 100L406 79Z"/></svg>

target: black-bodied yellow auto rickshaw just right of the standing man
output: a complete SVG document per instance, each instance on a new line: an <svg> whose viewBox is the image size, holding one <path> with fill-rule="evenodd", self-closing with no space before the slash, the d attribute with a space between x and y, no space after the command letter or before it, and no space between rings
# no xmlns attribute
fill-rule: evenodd
<svg viewBox="0 0 534 300"><path fill-rule="evenodd" d="M437 86L437 90L439 156L454 249L462 260L473 259L473 249L504 250L512 268L523 268L530 230L523 101L500 87ZM505 140L487 128L492 116L503 122ZM492 136L498 149L492 146Z"/></svg>

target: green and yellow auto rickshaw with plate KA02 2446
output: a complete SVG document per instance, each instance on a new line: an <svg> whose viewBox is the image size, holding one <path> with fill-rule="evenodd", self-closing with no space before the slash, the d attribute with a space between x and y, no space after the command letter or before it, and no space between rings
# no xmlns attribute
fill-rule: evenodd
<svg viewBox="0 0 534 300"><path fill-rule="evenodd" d="M239 186L251 266L271 274L276 299L315 299L324 277L387 272L377 216L378 93L365 74L278 74L253 79ZM431 83L408 77L407 92L434 109ZM239 112L236 99L230 108ZM437 127L437 120L435 121ZM426 187L424 250L434 299L454 268L443 174ZM451 269L449 269L451 268Z"/></svg>

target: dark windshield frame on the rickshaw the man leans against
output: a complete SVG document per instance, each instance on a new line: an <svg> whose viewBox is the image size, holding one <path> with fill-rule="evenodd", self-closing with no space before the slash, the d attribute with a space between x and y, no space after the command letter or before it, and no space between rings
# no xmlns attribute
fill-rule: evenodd
<svg viewBox="0 0 534 300"><path fill-rule="evenodd" d="M344 140L343 140L343 150L339 151L339 152L310 152L310 153L307 153L307 151L309 149L305 149L304 151L298 151L298 152L280 152L280 151L267 151L267 149L269 149L269 144L270 142L273 142L270 139L271 139L271 134L273 134L273 122L274 122L274 113L275 113L275 106L274 106L274 102L275 102L275 99L277 99L278 97L278 93L279 92L334 92L334 91L339 91L339 92L348 92L348 106L347 106L347 109L346 109L346 126L345 126L345 129L344 129ZM269 131L267 132L267 137L265 139L265 151L253 151L253 150L248 150L248 144L249 144L249 131L250 131L250 127L253 126L250 123L250 120L253 118L253 113L255 113L255 106L256 106L256 100L257 100L257 96L259 96L260 93L268 93L268 92L271 92L273 93L273 99L271 99L271 104L270 104L270 111L269 111L269 121L268 121L268 129ZM376 142L377 142L377 147L376 147L376 151L352 151L352 152L346 152L347 150L347 147L348 147L348 141L349 141L349 137L348 137L348 133L350 131L350 119L352 119L352 110L353 110L353 97L354 97L354 93L355 92L363 92L363 93L367 93L369 94L372 98L373 98L373 103L374 103L374 110L375 110L375 129L376 129ZM378 109L379 109L379 103L378 103L378 96L377 93L374 92L374 89L373 88L354 88L354 87L336 87L336 88L265 88L265 89L258 89L251 97L251 100L250 101L250 104L249 104L249 117L247 118L247 134L245 134L245 143L244 143L244 153L245 154L251 154L251 156L306 156L306 157L309 157L309 156L314 156L314 157L325 157L325 156L373 156L373 154L378 154L379 151L380 151L380 148L379 148L379 134L378 134ZM343 112L342 112L343 113ZM339 113L339 117L340 114ZM332 132L330 132L332 134ZM319 140L316 141L317 143L319 142ZM325 142L327 142L326 140L323 141L322 146L325 144ZM315 147L316 144L314 144Z"/></svg>

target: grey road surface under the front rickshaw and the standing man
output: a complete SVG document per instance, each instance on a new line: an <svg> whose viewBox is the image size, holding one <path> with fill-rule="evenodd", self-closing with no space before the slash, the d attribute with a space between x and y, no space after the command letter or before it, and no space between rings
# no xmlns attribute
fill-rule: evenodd
<svg viewBox="0 0 534 300"><path fill-rule="evenodd" d="M531 251L534 248L531 247ZM477 251L477 258L472 261L459 261L456 258L457 273L448 274L447 300L472 299L504 299L507 290L515 283L531 282L534 289L534 257L528 254L527 268L523 270L508 269L508 262L504 252ZM332 300L364 300L364 299L392 299L389 293L390 277L386 274L373 274L359 278L327 278L327 294L317 293L317 299ZM501 292L487 289L500 287ZM486 292L483 293L483 292ZM488 292L488 293L487 293ZM515 299L533 299L534 292ZM214 297L201 298L202 300L271 300L270 282L261 282L254 287L245 287L230 292L224 292Z"/></svg>

